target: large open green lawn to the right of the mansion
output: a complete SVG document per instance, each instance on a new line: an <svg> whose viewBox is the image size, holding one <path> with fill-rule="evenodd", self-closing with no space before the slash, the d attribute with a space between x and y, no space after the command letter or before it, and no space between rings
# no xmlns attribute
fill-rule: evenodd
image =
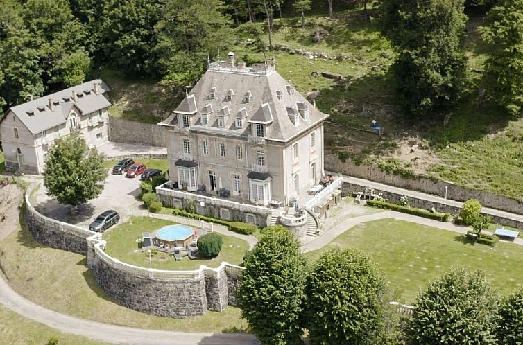
<svg viewBox="0 0 523 345"><path fill-rule="evenodd" d="M461 234L452 231L385 219L353 227L326 247L305 255L312 260L330 248L361 249L379 264L389 288L400 292L408 303L452 265L482 269L501 294L522 284L522 246L499 242L492 248L470 245L462 239Z"/></svg>

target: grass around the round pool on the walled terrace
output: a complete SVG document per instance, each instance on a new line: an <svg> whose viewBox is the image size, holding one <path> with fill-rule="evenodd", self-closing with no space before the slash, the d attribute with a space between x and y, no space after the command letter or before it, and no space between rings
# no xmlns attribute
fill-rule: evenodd
<svg viewBox="0 0 523 345"><path fill-rule="evenodd" d="M129 222L121 224L103 234L103 239L108 241L105 252L124 263L148 268L148 252L142 252L136 240L142 238L142 232L152 232L171 224L175 224L175 222L148 217L132 217ZM189 260L186 256L182 256L181 261L176 261L172 254L153 251L151 253L152 266L155 269L180 270L198 269L200 265L218 267L223 261L234 265L241 264L243 256L248 250L247 242L232 236L220 236L223 238L223 245L220 254L215 258L205 259L198 257L195 260Z"/></svg>

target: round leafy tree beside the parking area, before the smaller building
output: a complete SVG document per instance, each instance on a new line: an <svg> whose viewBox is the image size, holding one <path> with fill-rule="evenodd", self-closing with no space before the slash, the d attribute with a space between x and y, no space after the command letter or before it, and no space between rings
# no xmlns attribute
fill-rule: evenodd
<svg viewBox="0 0 523 345"><path fill-rule="evenodd" d="M85 204L103 191L108 174L103 163L103 154L88 148L78 134L55 140L45 159L47 195L56 197L60 204Z"/></svg>

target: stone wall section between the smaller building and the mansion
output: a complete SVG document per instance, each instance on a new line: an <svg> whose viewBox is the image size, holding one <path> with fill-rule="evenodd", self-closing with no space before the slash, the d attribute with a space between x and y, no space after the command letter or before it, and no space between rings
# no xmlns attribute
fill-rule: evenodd
<svg viewBox="0 0 523 345"><path fill-rule="evenodd" d="M123 118L109 118L109 137L117 143L166 147L165 132L159 125L129 121Z"/></svg>

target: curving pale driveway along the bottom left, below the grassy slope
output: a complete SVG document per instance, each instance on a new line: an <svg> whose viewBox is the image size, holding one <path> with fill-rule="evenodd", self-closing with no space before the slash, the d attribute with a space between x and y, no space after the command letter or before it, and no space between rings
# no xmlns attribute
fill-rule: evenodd
<svg viewBox="0 0 523 345"><path fill-rule="evenodd" d="M259 344L253 335L243 333L182 333L148 330L102 324L70 317L46 309L25 299L10 288L0 274L0 303L19 315L65 333L82 335L115 344L178 344L178 345L243 345Z"/></svg>

